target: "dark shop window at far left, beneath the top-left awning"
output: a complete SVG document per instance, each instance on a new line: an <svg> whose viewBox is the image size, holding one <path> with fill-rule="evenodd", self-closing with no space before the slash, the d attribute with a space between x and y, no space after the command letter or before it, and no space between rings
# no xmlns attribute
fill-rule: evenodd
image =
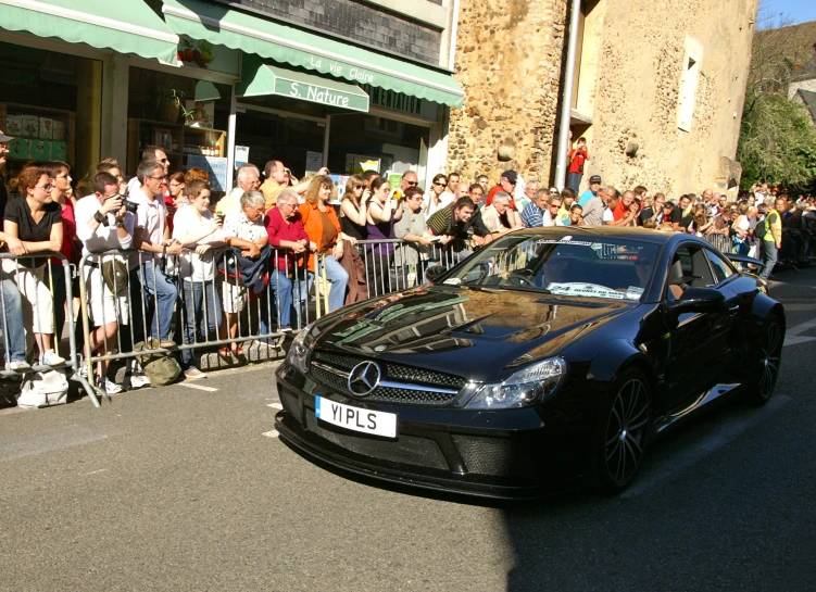
<svg viewBox="0 0 816 592"><path fill-rule="evenodd" d="M0 42L0 129L7 179L29 161L64 161L76 180L100 160L102 63Z"/></svg>

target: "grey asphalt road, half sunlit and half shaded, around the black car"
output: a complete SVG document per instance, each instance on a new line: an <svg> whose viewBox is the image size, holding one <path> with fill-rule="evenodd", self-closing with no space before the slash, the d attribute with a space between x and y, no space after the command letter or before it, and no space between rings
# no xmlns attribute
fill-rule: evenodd
<svg viewBox="0 0 816 592"><path fill-rule="evenodd" d="M660 442L624 495L376 487L272 431L273 366L0 412L0 590L816 590L816 269L775 398ZM809 323L809 324L808 324Z"/></svg>

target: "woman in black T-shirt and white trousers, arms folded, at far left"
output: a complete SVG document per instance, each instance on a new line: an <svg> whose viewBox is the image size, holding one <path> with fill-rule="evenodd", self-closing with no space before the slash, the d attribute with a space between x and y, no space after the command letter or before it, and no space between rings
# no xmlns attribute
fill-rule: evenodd
<svg viewBox="0 0 816 592"><path fill-rule="evenodd" d="M62 247L62 212L51 198L51 180L39 166L26 166L17 177L21 199L5 206L2 237L7 250L18 256L3 260L3 270L23 295L23 322L34 332L40 363L58 366L65 360L53 348L53 301L43 281L48 257L27 257L32 253L59 251Z"/></svg>

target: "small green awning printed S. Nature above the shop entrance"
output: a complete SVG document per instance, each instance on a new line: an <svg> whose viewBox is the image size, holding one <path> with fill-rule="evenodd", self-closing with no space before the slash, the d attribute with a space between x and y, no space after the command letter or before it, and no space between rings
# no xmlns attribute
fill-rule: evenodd
<svg viewBox="0 0 816 592"><path fill-rule="evenodd" d="M244 55L237 97L278 95L327 106L368 113L368 95L359 86L264 64L256 55Z"/></svg>

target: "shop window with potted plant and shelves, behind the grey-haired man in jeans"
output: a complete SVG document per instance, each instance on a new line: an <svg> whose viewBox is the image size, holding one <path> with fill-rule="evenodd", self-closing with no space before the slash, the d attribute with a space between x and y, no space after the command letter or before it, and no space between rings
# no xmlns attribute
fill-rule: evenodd
<svg viewBox="0 0 816 592"><path fill-rule="evenodd" d="M127 172L136 171L145 147L160 146L171 172L206 168L213 189L227 190L230 87L131 67L128 88Z"/></svg>

